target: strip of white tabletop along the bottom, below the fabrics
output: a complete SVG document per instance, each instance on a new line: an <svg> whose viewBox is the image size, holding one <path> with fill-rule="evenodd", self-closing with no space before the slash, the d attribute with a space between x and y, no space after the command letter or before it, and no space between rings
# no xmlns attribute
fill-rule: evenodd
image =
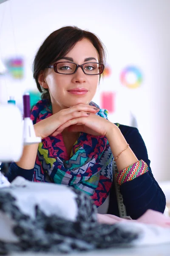
<svg viewBox="0 0 170 256"><path fill-rule="evenodd" d="M86 253L52 254L52 253L11 253L9 256L169 256L170 244L136 248L110 248L107 250L93 250Z"/></svg>

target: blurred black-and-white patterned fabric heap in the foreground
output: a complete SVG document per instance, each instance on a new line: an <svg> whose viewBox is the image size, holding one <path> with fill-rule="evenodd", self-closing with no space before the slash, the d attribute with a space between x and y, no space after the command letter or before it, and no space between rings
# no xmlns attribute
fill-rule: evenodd
<svg viewBox="0 0 170 256"><path fill-rule="evenodd" d="M29 185L37 188L33 203L30 199ZM3 224L3 228L1 226L0 229L1 254L11 251L71 253L130 245L141 236L140 228L130 231L127 228L124 230L119 223L99 224L96 219L96 206L88 195L66 186L67 197L71 194L74 195L75 219L70 220L73 217L69 215L71 209L67 209L67 205L65 205L64 213L62 209L63 217L61 217L61 214L58 214L61 212L61 203L57 201L53 202L54 207L58 204L57 212L54 214L54 211L51 210L51 213L48 211L47 214L39 203L40 194L42 197L44 193L45 197L44 186L60 188L59 186L62 185L54 184L53 186L44 183L42 187L42 183L26 181L25 184L15 184L15 186L0 189L0 224ZM48 192L50 195L49 189ZM57 193L59 192L56 191L56 196ZM60 196L62 197L62 194ZM65 199L62 198L62 201L64 202ZM19 201L22 201L23 204Z"/></svg>

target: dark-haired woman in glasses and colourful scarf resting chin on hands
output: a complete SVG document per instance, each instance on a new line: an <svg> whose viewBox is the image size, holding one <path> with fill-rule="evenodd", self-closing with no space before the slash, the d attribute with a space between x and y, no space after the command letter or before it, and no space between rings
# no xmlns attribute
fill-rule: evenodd
<svg viewBox="0 0 170 256"><path fill-rule="evenodd" d="M105 49L91 32L67 26L46 38L34 59L42 101L31 113L42 143L24 147L20 161L11 163L8 180L20 175L73 186L91 196L99 213L120 216L118 183L131 218L147 209L164 212L165 196L139 131L113 124L92 102L104 64Z"/></svg>

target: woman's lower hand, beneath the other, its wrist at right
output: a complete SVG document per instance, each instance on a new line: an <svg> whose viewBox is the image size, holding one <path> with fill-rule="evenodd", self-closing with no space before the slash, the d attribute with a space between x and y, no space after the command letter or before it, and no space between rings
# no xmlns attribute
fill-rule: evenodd
<svg viewBox="0 0 170 256"><path fill-rule="evenodd" d="M106 136L108 131L113 128L114 124L108 121L107 119L97 116L94 113L91 113L88 118L86 117L77 117L74 119L70 119L61 125L57 131L61 132L66 127L68 127L68 131L71 132L85 132L87 134L99 136Z"/></svg>

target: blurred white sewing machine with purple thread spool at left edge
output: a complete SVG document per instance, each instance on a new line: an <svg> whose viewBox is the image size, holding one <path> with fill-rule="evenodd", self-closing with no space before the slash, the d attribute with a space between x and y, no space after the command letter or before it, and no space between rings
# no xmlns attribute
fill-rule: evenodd
<svg viewBox="0 0 170 256"><path fill-rule="evenodd" d="M0 105L0 162L17 162L22 156L24 145L41 142L41 138L35 135L30 119L29 93L23 95L23 109L22 116L15 105ZM9 186L9 183L0 173L0 187L2 186Z"/></svg>

